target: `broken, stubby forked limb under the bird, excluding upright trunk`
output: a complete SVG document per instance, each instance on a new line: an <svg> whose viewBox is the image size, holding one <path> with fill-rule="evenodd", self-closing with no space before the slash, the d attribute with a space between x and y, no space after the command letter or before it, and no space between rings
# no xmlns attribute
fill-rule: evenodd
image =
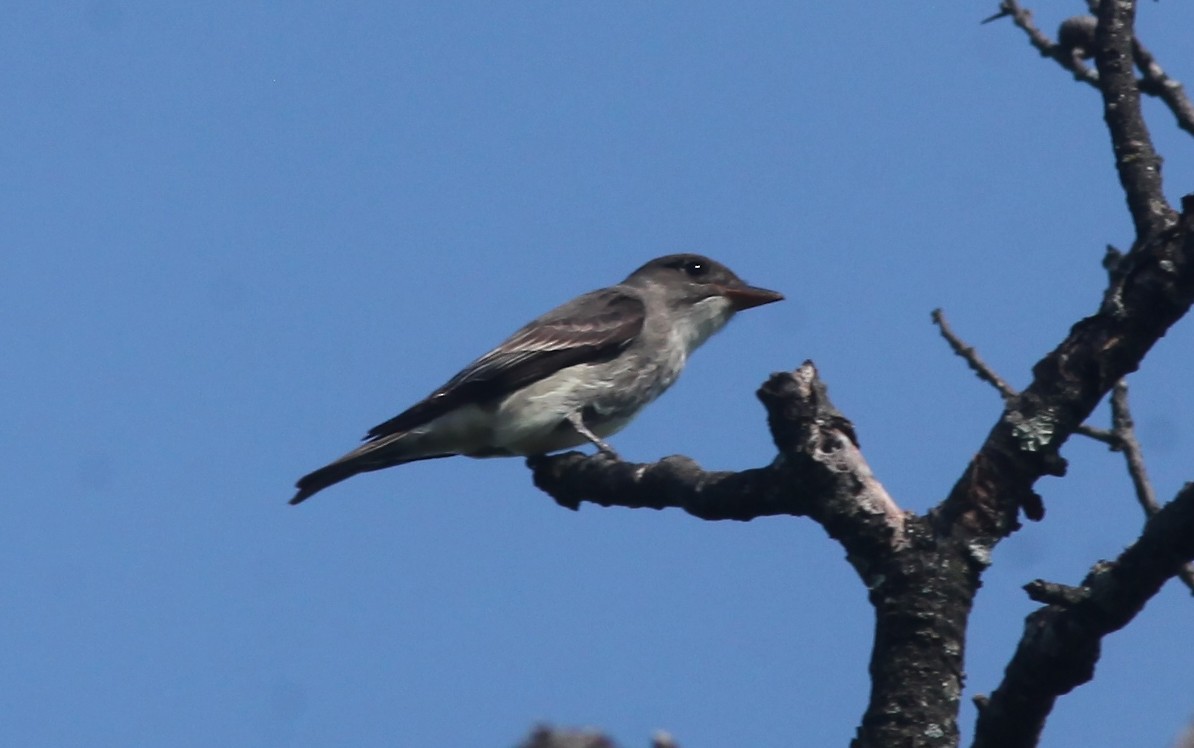
<svg viewBox="0 0 1194 748"><path fill-rule="evenodd" d="M898 548L904 513L870 472L854 425L833 407L813 364L773 374L758 397L780 449L767 467L708 472L685 456L644 465L578 452L535 456L527 464L535 485L571 509L587 501L602 507L675 507L706 520L811 516L860 562L869 564Z"/></svg>

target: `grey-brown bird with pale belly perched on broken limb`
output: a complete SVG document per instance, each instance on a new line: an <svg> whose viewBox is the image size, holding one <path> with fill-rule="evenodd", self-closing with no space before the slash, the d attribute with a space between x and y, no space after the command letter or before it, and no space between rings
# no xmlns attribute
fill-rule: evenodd
<svg viewBox="0 0 1194 748"><path fill-rule="evenodd" d="M298 479L297 504L330 485L416 460L531 455L602 441L670 387L736 312L780 301L700 255L659 257L610 288L515 332L364 443Z"/></svg>

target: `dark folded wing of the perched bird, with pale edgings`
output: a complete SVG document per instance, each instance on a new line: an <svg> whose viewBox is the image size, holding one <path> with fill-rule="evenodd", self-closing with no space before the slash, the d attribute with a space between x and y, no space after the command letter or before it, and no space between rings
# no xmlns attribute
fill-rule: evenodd
<svg viewBox="0 0 1194 748"><path fill-rule="evenodd" d="M423 425L463 403L498 398L560 369L608 360L642 330L646 307L624 288L603 288L556 307L515 332L426 399L369 430L376 441Z"/></svg>

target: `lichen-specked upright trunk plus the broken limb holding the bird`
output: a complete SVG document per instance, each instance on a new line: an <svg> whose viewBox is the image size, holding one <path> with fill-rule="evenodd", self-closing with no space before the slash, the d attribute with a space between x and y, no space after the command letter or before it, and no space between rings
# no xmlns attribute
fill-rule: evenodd
<svg viewBox="0 0 1194 748"><path fill-rule="evenodd" d="M905 515L858 452L811 363L759 390L778 458L743 473L708 473L687 458L627 465L576 453L529 460L536 484L565 505L679 507L697 516L808 515L847 548L875 608L872 693L855 744L956 746L966 620L990 563L965 539L935 537ZM925 693L942 698L925 699Z"/></svg>

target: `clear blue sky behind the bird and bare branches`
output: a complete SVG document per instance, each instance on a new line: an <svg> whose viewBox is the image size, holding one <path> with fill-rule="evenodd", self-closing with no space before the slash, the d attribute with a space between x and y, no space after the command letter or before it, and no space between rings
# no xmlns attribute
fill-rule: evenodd
<svg viewBox="0 0 1194 748"><path fill-rule="evenodd" d="M929 312L1022 386L1131 237L1096 93L980 26L995 10L6 2L2 742L511 746L547 721L847 744L872 614L808 520L572 513L517 459L285 502L528 319L698 251L788 300L698 351L617 449L767 464L755 390L812 358L893 496L931 507L1001 403ZM1141 13L1194 84L1194 5ZM1194 143L1149 114L1177 198ZM1163 497L1194 479L1192 368L1184 320L1131 380ZM1077 583L1138 535L1121 459L1065 455L986 576L967 730L1035 608L1020 585ZM1192 621L1170 584L1044 744L1168 746L1194 717Z"/></svg>

